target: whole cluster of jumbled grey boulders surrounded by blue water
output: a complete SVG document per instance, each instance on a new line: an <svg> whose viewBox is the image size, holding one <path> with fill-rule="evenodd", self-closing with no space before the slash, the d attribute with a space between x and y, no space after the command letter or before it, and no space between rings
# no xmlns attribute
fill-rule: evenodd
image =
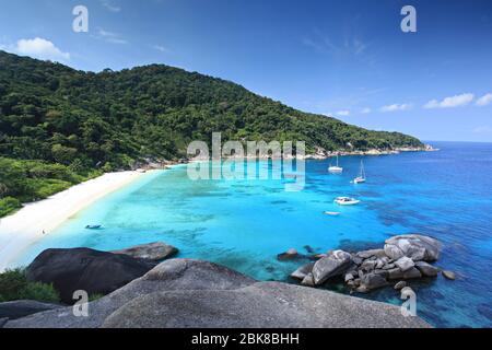
<svg viewBox="0 0 492 350"><path fill-rule="evenodd" d="M440 269L429 262L440 257L442 244L432 237L408 234L394 236L385 242L384 248L359 253L343 250L319 255L315 262L300 267L291 277L301 284L317 287L333 277L342 277L352 290L366 293L372 290L394 284L400 290L407 285L405 280L423 277L434 278ZM443 271L448 279L450 271Z"/></svg>

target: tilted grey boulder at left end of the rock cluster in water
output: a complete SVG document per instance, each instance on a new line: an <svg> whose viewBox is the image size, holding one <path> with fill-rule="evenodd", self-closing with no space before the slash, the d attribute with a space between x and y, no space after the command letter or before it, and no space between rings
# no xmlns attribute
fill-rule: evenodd
<svg viewBox="0 0 492 350"><path fill-rule="evenodd" d="M351 255L343 250L335 250L327 257L316 261L313 267L313 278L316 285L323 284L329 278L340 276L352 266Z"/></svg>

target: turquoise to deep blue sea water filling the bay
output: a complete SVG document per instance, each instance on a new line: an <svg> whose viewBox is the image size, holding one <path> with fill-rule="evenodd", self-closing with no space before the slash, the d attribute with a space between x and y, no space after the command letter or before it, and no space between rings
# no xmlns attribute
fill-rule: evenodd
<svg viewBox="0 0 492 350"><path fill-rule="evenodd" d="M341 158L343 175L328 175L329 161L309 161L306 187L298 192L272 179L191 182L186 167L149 174L71 218L19 264L48 247L117 249L164 241L177 246L180 257L223 264L259 280L286 280L302 262L276 256L291 247L356 250L419 232L445 244L436 265L459 279L411 282L418 314L440 327L491 327L492 144L434 144L442 150L364 158L368 183L358 186L350 180L361 158ZM333 205L341 195L362 203ZM94 223L104 230L83 229ZM391 289L361 296L401 303Z"/></svg>

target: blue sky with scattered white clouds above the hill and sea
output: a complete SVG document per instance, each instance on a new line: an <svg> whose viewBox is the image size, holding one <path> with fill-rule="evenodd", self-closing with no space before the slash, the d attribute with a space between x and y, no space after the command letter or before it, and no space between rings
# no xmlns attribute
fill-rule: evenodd
<svg viewBox="0 0 492 350"><path fill-rule="evenodd" d="M72 31L78 4L89 33ZM371 129L492 141L489 0L0 0L0 48L92 71L166 63Z"/></svg>

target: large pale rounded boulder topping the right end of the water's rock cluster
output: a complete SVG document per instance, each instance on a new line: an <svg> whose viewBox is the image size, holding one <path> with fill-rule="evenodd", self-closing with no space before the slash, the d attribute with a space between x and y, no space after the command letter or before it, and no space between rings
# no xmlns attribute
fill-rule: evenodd
<svg viewBox="0 0 492 350"><path fill-rule="evenodd" d="M394 236L385 243L385 253L394 260L408 257L413 261L435 261L440 258L442 248L437 240L420 234Z"/></svg>

